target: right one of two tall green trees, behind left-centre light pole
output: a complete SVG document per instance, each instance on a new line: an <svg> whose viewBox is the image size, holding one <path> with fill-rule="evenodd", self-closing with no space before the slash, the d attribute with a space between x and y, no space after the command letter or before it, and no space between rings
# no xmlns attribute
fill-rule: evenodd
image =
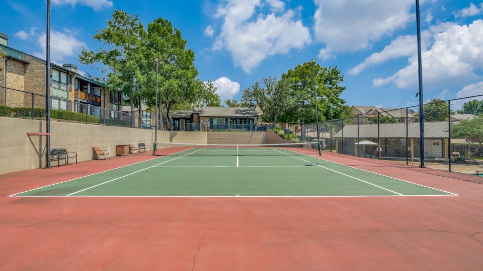
<svg viewBox="0 0 483 271"><path fill-rule="evenodd" d="M203 86L197 78L195 54L186 49L187 41L181 36L181 31L174 28L170 21L158 18L147 26L147 38L143 42L143 92L146 102L154 105L155 101L155 68L154 59L159 65L158 101L160 111L165 111L173 128L171 113L177 107L192 106L197 102L216 104L213 88ZM207 93L206 91L211 92ZM219 98L218 98L219 100Z"/></svg>

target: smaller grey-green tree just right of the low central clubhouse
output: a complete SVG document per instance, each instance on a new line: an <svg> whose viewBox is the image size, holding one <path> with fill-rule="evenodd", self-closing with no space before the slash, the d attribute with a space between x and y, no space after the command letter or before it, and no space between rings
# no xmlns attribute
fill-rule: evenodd
<svg viewBox="0 0 483 271"><path fill-rule="evenodd" d="M290 83L288 80L275 77L262 79L265 87L259 82L243 91L242 99L247 102L255 102L263 112L262 119L276 125L283 112L290 111L295 100L290 95Z"/></svg>

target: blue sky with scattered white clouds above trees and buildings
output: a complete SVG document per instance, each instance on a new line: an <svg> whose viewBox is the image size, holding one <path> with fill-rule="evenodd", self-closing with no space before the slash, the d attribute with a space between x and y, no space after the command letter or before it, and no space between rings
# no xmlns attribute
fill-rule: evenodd
<svg viewBox="0 0 483 271"><path fill-rule="evenodd" d="M349 105L402 107L418 98L413 0L52 0L56 63L79 64L81 48L114 9L139 15L145 26L170 20L188 40L202 80L222 98L238 98L266 76L280 76L315 58L345 74ZM0 32L9 46L43 57L45 2L0 0ZM421 1L425 100L483 94L483 2Z"/></svg>

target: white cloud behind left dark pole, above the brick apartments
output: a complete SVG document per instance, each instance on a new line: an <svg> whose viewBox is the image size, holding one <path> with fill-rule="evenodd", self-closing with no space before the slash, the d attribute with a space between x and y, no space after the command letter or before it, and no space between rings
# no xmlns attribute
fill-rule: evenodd
<svg viewBox="0 0 483 271"><path fill-rule="evenodd" d="M35 56L45 59L45 33L42 33L37 42L42 48L42 52L34 53ZM75 39L73 33L68 30L50 32L50 57L52 62L62 62L66 57L77 55L86 43Z"/></svg>

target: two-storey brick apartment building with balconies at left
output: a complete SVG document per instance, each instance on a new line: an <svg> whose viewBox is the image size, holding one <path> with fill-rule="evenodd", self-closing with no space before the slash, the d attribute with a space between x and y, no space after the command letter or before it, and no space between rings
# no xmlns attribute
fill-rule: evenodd
<svg viewBox="0 0 483 271"><path fill-rule="evenodd" d="M0 104L11 107L45 106L45 61L8 47L8 36L0 33ZM52 109L89 113L102 118L117 117L121 94L79 74L74 64L50 65ZM103 110L103 108L112 110ZM116 112L117 111L117 112Z"/></svg>

